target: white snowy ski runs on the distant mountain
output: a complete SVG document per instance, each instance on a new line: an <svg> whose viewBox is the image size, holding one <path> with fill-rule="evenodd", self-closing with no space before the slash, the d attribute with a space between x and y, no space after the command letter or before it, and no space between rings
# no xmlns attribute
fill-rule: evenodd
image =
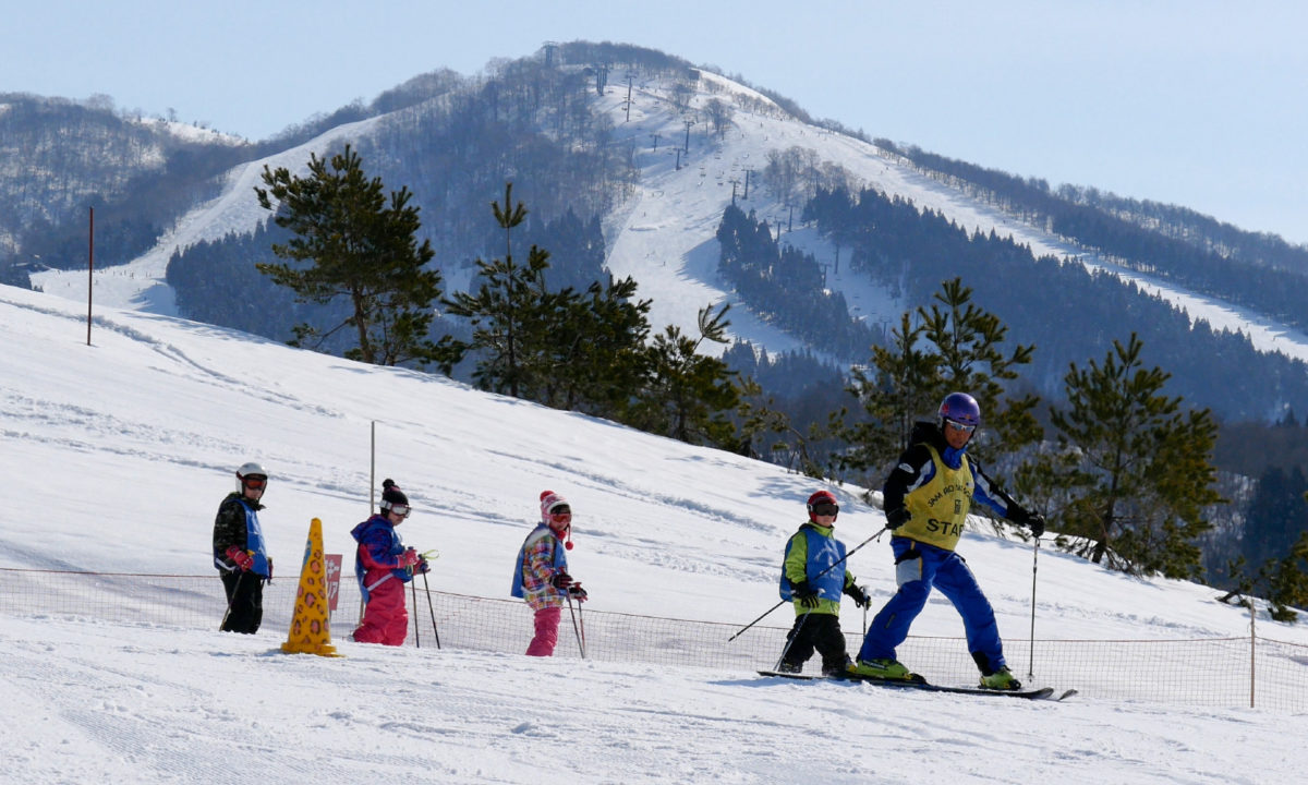
<svg viewBox="0 0 1308 785"><path fill-rule="evenodd" d="M773 221L774 226L778 222L793 226L795 230L786 232L783 242L812 253L821 262L835 260L835 249L811 229L800 230L798 216L791 224L789 211L766 194L760 181L752 181L749 199L743 200L746 170L761 171L769 150L800 147L815 150L821 161L842 166L865 184L888 195L904 196L920 209L934 209L969 232L994 230L1001 237L1011 236L1027 245L1036 255L1076 258L1090 268L1108 270L1122 280L1134 281L1146 293L1184 309L1192 321L1203 319L1218 331L1244 332L1258 351L1308 360L1308 334L1300 330L1113 266L1086 249L1020 224L995 208L923 177L875 145L782 116L780 110L769 109L759 114L736 106L732 127L722 140L717 140L708 122L700 118L691 128L689 152L681 156L678 169L676 148L685 141L685 124L683 115L667 101L671 86L662 78L638 76L633 81L629 120L625 84L611 85L606 96L598 98L600 109L613 119L615 139L634 145L640 167L634 194L610 216L606 225L608 267L617 276L633 276L640 284L640 296L653 300L650 323L655 330L662 330L663 324L678 324L684 332L697 335L698 311L726 301L735 304L730 315L730 335L769 352L802 348L800 341L749 313L727 292L717 279L718 243L714 239L722 211L731 201L731 181L738 181L742 209L756 211L760 218ZM730 102L736 94L774 106L755 90L710 72L701 72L696 88L695 109L702 109L714 98ZM695 116L693 111L691 116ZM264 164L286 166L303 174L310 152L322 154L347 140L368 135L386 122L387 115L383 115L340 126L300 148L234 169L220 196L183 216L149 253L127 266L95 271L95 301L112 307L177 315L173 292L164 283L169 258L174 250L217 239L230 232L250 233L266 221L267 211L259 208L252 192ZM653 149L655 133L659 137L657 150ZM392 183L392 187L399 184ZM86 301L85 271L46 271L31 277L46 292ZM893 324L904 311L904 305L887 292L863 276L850 275L848 266L838 272L832 270L828 285L844 292L854 315L871 323ZM705 345L704 351L721 352L722 348L713 344Z"/></svg>

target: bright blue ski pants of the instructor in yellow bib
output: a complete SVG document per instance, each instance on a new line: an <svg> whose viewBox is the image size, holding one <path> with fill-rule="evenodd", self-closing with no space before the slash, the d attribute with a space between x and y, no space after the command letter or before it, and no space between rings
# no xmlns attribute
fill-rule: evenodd
<svg viewBox="0 0 1308 785"><path fill-rule="evenodd" d="M968 652L982 672L1005 667L1003 642L994 608L981 593L976 577L963 557L954 551L937 548L904 536L892 536L895 578L899 591L886 603L867 627L859 659L893 659L895 648L908 637L913 620L926 607L931 589L939 589L963 616ZM988 670L989 669L989 670Z"/></svg>

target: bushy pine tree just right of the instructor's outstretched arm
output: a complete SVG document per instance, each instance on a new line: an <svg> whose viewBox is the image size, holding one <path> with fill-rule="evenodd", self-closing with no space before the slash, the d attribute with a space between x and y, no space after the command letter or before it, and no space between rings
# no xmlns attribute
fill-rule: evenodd
<svg viewBox="0 0 1308 785"><path fill-rule="evenodd" d="M1053 527L1059 544L1099 564L1139 574L1189 578L1196 538L1210 529L1203 509L1222 502L1211 466L1216 425L1209 410L1181 412L1162 394L1168 374L1144 369L1131 334L1113 341L1103 365L1074 364L1067 408L1054 408L1058 450L1041 457L1044 476L1066 504Z"/></svg>

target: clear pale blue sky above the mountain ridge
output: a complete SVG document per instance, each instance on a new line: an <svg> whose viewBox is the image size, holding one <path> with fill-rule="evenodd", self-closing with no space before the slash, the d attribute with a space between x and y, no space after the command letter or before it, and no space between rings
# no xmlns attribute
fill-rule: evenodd
<svg viewBox="0 0 1308 785"><path fill-rule="evenodd" d="M1308 242L1308 4L1294 0L14 5L0 92L106 94L250 139L437 68L613 41L874 137Z"/></svg>

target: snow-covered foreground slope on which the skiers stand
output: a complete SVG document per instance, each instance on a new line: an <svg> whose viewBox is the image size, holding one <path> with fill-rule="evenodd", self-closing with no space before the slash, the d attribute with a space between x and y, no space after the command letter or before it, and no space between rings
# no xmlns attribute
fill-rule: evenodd
<svg viewBox="0 0 1308 785"><path fill-rule="evenodd" d="M1216 603L1213 589L1042 548L1037 652L1073 654L1039 655L1029 670L1035 683L1082 689L1058 704L759 679L753 669L780 654L789 608L751 631L757 654L726 637L777 603L781 551L819 487L811 479L443 377L139 310L97 307L88 345L84 306L8 287L0 343L8 781L1265 784L1299 781L1308 764L1294 743L1308 733L1303 649L1260 674L1290 710L1248 708L1239 691L1211 700L1202 679L1155 686L1151 697L1135 689L1146 670L1131 641L1142 640L1169 644L1168 674L1231 669L1239 686L1239 655L1207 662L1193 642L1248 635L1247 614ZM439 650L354 644L337 619L341 658L283 654L284 621L255 636L216 632L209 536L234 467L256 459L272 474L260 517L283 586L313 517L327 552L348 564L348 531L369 510L374 423L375 483L392 476L412 500L402 534L439 550L429 578L442 602L508 599L513 556L551 488L577 512L569 561L595 629L603 614L715 621L723 632L704 644L704 662L743 662L651 665L645 649L598 635L582 661L566 616L560 655L531 659L521 654L525 612L510 619L513 644L497 648L458 640L442 614ZM882 527L861 489L832 491L846 544ZM976 526L960 552L1024 674L1031 546ZM893 591L884 539L849 565L876 604ZM97 578L93 590L73 574L88 570L131 574ZM179 601L144 574L196 576L212 599L194 623L150 620L146 608ZM283 604L266 618L285 619ZM846 604L848 633L859 618ZM960 629L937 597L909 644L939 636L921 645L965 659ZM1262 618L1258 629L1308 645L1301 625ZM1078 659L1093 650L1084 641L1100 641L1103 658ZM1205 662L1184 657L1196 650ZM974 678L904 655L942 682Z"/></svg>

